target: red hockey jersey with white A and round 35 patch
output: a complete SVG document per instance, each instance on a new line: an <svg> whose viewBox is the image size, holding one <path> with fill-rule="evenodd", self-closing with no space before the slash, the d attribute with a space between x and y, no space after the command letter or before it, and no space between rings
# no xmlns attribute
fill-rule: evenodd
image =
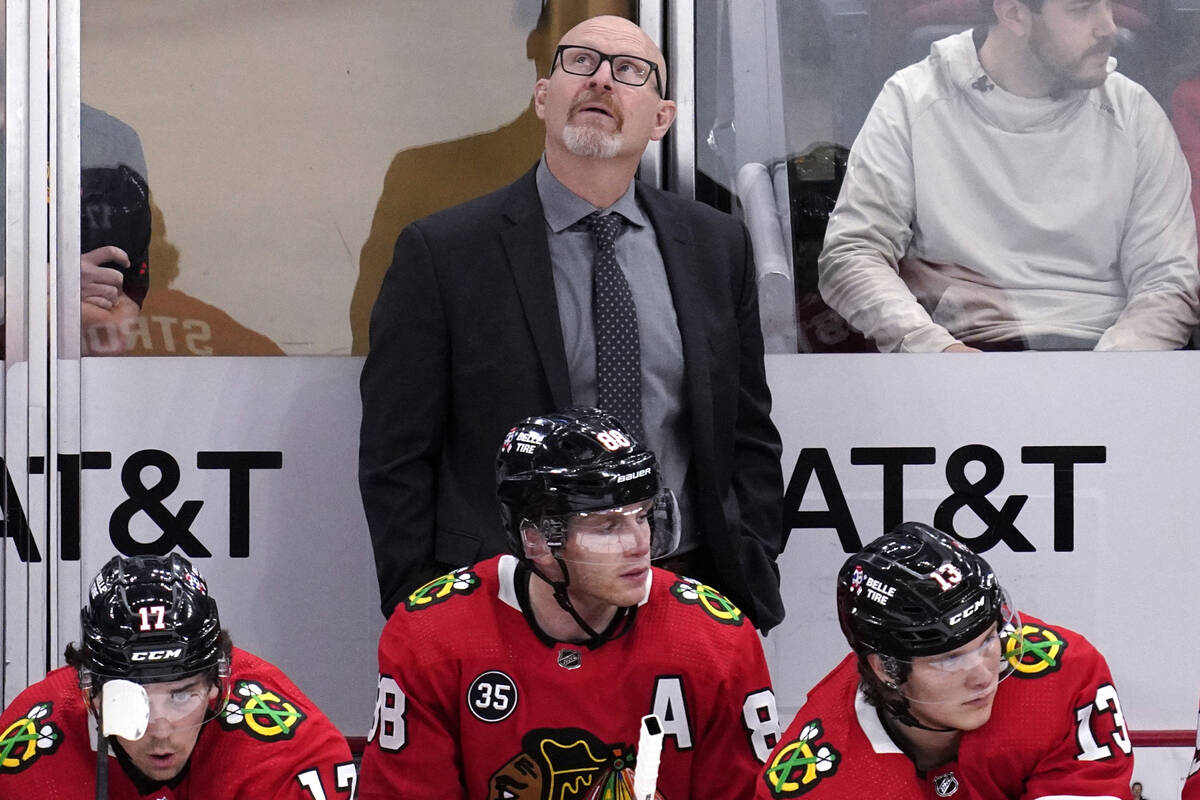
<svg viewBox="0 0 1200 800"><path fill-rule="evenodd" d="M361 800L617 800L652 712L665 800L754 795L779 722L736 606L654 569L626 633L550 644L521 612L516 566L503 555L438 578L388 620Z"/></svg>

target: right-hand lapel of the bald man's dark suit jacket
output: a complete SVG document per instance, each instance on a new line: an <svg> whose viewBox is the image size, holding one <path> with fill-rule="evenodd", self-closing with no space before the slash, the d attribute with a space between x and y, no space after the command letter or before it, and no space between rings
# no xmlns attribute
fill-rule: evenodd
<svg viewBox="0 0 1200 800"><path fill-rule="evenodd" d="M684 380L688 384L688 411L691 419L694 457L712 463L713 393L709 381L709 347L704 320L710 306L704 296L695 236L686 218L671 209L670 199L638 181L638 199L658 234L659 252L667 271L674 300L679 337L683 341Z"/></svg>

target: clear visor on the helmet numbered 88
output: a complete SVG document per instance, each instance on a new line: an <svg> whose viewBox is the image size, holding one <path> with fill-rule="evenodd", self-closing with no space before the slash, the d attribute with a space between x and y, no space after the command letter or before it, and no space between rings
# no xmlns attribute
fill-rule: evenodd
<svg viewBox="0 0 1200 800"><path fill-rule="evenodd" d="M679 546L679 506L667 488L641 503L545 522L565 531L556 557L569 564L611 564L622 557L659 559Z"/></svg>

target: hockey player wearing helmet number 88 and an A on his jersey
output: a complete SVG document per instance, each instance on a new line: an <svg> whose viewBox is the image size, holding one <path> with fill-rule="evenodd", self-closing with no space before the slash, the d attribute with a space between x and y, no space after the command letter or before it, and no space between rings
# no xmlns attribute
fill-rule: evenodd
<svg viewBox="0 0 1200 800"><path fill-rule="evenodd" d="M654 714L658 796L751 798L779 733L762 646L727 599L650 566L678 536L654 455L570 409L518 422L497 482L512 554L384 627L359 796L629 798Z"/></svg>

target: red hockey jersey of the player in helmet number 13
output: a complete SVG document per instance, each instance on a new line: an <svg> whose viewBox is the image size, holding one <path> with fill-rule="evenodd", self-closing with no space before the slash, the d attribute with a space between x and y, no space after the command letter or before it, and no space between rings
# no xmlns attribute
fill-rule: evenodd
<svg viewBox="0 0 1200 800"><path fill-rule="evenodd" d="M1013 674L955 762L917 772L858 691L853 654L826 675L784 734L757 798L1037 800L1128 798L1129 733L1104 657L1082 636L1022 616L1006 639Z"/></svg>

